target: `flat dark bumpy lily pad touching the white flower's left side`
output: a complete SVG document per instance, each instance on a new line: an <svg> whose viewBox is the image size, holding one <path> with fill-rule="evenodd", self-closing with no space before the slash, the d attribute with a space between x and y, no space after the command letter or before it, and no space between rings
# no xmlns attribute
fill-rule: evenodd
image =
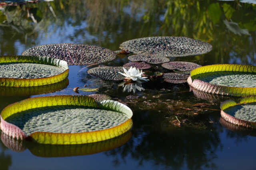
<svg viewBox="0 0 256 170"><path fill-rule="evenodd" d="M125 67L129 69L128 67ZM124 80L124 76L118 72L124 72L123 67L94 67L87 71L91 76L101 78L103 80Z"/></svg>

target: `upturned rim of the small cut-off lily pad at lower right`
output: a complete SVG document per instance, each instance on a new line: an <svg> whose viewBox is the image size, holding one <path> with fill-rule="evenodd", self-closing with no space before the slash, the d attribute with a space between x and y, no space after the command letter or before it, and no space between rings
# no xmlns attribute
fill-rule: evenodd
<svg viewBox="0 0 256 170"><path fill-rule="evenodd" d="M226 100L225 102L222 102L220 104L220 114L226 121L233 123L238 126L243 126L251 129L256 129L256 122L252 121L245 121L242 119L238 119L232 115L229 115L224 111L224 109L227 109L228 107L240 105L240 104L249 104L256 102L256 96L248 96L245 98L241 98L238 102L235 102L234 100Z"/></svg>

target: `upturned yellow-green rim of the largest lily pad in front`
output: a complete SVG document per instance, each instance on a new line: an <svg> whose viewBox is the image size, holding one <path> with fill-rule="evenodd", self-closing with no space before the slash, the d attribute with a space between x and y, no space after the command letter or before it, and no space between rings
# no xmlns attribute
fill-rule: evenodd
<svg viewBox="0 0 256 170"><path fill-rule="evenodd" d="M25 136L24 132L11 123L5 121L7 117L12 114L19 113L28 109L46 107L46 106L87 106L98 109L107 109L124 113L128 116L128 120L124 123L104 129L101 131L83 132L83 133L49 133L49 132L35 132L30 136ZM132 127L132 110L122 103L113 100L104 100L99 104L95 100L88 96L46 96L36 97L22 100L14 104L6 106L1 112L1 124L2 131L16 139L31 139L37 143L42 144L54 144L54 145L74 145L83 143L93 143L98 141L104 141L117 137Z"/></svg>

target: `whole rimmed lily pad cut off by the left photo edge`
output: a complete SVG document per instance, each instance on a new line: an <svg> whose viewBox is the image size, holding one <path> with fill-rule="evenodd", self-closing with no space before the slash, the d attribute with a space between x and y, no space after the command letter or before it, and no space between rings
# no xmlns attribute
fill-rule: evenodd
<svg viewBox="0 0 256 170"><path fill-rule="evenodd" d="M42 86L60 82L67 77L66 61L50 57L0 57L0 86Z"/></svg>

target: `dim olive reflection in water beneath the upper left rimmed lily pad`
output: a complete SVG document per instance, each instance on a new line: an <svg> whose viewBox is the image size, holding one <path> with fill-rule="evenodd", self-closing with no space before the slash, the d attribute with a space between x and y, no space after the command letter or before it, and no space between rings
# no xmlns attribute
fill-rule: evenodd
<svg viewBox="0 0 256 170"><path fill-rule="evenodd" d="M61 82L44 86L32 87L4 87L0 86L0 96L32 96L44 93L56 92L68 86L68 78Z"/></svg>

